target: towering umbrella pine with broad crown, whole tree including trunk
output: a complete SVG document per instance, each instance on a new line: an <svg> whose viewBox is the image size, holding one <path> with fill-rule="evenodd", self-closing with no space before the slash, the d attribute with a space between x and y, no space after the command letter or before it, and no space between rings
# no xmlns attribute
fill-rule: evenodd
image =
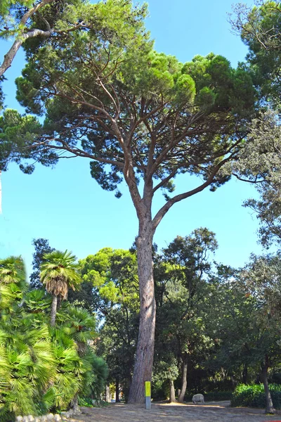
<svg viewBox="0 0 281 422"><path fill-rule="evenodd" d="M100 3L96 11L112 11L111 5ZM65 153L79 155L91 159L91 174L103 188L115 190L123 178L129 187L139 221L141 298L130 401L142 402L143 382L152 374L155 230L179 200L229 179L221 169L240 151L245 122L254 111L254 89L247 72L234 70L221 56L197 56L183 65L155 53L143 27L145 8L132 8L131 2L115 6L118 13L106 16L107 31L81 28L63 39L25 42L28 63L17 82L18 99L33 113L46 110L46 120L37 129L39 137L25 138L20 132L20 139L44 164ZM18 115L20 122L22 118ZM3 138L8 145L14 142L8 130ZM169 197L173 179L181 173L204 181ZM166 191L166 203L152 217L159 189Z"/></svg>

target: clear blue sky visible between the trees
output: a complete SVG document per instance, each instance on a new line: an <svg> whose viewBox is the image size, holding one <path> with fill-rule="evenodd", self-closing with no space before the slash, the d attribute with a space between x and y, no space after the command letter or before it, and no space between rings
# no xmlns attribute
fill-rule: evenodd
<svg viewBox="0 0 281 422"><path fill-rule="evenodd" d="M243 60L246 47L231 34L227 12L232 0L150 0L148 29L157 51L173 54L185 62L196 54L213 51L226 56L233 66ZM251 1L247 1L251 4ZM7 44L0 44L0 54ZM0 58L1 60L1 58ZM19 107L14 99L13 80L20 75L22 54L6 73L6 104ZM178 192L192 180L181 177ZM138 231L136 212L126 186L123 196L103 191L91 179L89 162L84 158L62 160L55 169L37 166L29 176L15 165L2 174L3 214L0 216L0 257L22 255L30 271L32 239L47 238L51 246L72 250L79 258L100 248L129 248ZM254 196L254 188L230 181L215 193L204 191L174 205L159 225L155 242L162 247L175 236L186 236L206 226L216 233L219 249L216 260L241 266L257 245L258 223L243 200ZM162 198L155 201L155 210Z"/></svg>

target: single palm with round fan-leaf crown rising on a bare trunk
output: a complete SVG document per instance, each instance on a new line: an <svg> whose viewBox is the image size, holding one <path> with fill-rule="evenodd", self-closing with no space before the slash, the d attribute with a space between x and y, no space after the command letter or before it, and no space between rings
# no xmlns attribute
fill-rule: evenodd
<svg viewBox="0 0 281 422"><path fill-rule="evenodd" d="M75 290L81 283L79 265L72 252L53 252L44 255L44 262L40 266L40 280L46 286L48 293L53 296L51 307L51 326L55 326L55 316L58 307L58 298L67 299L68 289Z"/></svg>

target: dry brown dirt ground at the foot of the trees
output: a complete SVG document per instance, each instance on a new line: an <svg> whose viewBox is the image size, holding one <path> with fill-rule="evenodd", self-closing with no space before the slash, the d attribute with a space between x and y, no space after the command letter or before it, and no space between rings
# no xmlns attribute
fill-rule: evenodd
<svg viewBox="0 0 281 422"><path fill-rule="evenodd" d="M110 404L104 408L81 408L80 422L281 422L281 414L267 416L262 409L233 408L230 402L207 404L154 403L151 410L141 404ZM72 419L74 422L74 419Z"/></svg>

